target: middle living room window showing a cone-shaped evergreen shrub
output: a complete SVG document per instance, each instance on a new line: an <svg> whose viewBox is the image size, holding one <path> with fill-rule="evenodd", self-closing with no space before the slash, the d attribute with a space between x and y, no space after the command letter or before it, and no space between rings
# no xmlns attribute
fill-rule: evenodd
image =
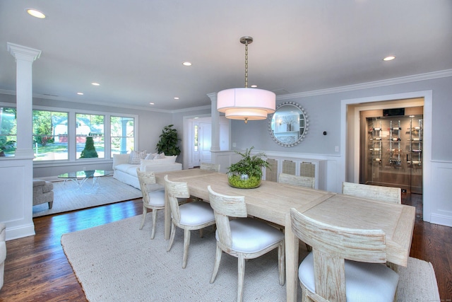
<svg viewBox="0 0 452 302"><path fill-rule="evenodd" d="M104 115L76 114L77 158L105 157Z"/></svg>

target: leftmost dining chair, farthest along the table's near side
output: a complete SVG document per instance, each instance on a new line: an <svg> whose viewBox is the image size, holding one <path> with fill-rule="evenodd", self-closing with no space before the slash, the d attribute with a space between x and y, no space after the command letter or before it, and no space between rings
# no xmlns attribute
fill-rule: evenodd
<svg viewBox="0 0 452 302"><path fill-rule="evenodd" d="M157 211L165 209L165 189L151 190L150 186L156 184L153 172L142 172L140 168L136 168L136 175L143 195L143 216L141 217L140 230L143 229L148 209L151 209L153 211L153 226L150 231L150 238L154 239Z"/></svg>

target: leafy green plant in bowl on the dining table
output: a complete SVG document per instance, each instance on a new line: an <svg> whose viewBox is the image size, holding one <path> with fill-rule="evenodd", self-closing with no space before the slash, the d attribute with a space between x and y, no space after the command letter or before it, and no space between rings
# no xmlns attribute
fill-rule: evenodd
<svg viewBox="0 0 452 302"><path fill-rule="evenodd" d="M267 161L263 160L266 154L263 152L256 153L251 156L251 150L246 149L244 153L235 151L235 153L242 156L242 159L237 163L233 163L229 167L227 174L227 181L231 187L238 187L239 189L252 189L261 185L262 168L270 168Z"/></svg>

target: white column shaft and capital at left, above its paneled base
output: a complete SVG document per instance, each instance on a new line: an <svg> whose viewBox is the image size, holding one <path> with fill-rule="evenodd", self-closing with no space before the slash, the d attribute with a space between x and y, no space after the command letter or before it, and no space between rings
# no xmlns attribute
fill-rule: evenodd
<svg viewBox="0 0 452 302"><path fill-rule="evenodd" d="M8 52L16 58L17 141L16 157L33 158L32 149L32 64L41 51L7 43Z"/></svg>

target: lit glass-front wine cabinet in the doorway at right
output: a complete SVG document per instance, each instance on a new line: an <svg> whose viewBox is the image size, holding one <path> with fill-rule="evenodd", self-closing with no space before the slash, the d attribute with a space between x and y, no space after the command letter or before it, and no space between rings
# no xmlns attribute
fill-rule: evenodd
<svg viewBox="0 0 452 302"><path fill-rule="evenodd" d="M360 182L422 194L422 129L422 115L365 117Z"/></svg>

